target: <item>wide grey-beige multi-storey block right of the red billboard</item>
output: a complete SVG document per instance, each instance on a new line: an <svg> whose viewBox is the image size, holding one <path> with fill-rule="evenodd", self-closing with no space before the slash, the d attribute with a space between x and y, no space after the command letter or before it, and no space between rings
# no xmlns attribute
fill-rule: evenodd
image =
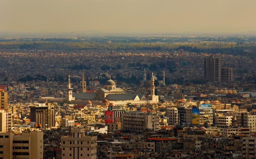
<svg viewBox="0 0 256 159"><path fill-rule="evenodd" d="M121 114L121 120L122 130L130 131L133 133L159 130L159 116L156 114L130 111Z"/></svg>

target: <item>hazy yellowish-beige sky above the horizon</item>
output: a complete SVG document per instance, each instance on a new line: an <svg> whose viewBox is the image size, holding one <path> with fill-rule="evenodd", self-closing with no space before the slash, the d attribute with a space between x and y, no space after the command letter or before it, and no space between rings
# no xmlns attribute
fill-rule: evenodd
<svg viewBox="0 0 256 159"><path fill-rule="evenodd" d="M256 0L0 0L0 32L256 31Z"/></svg>

